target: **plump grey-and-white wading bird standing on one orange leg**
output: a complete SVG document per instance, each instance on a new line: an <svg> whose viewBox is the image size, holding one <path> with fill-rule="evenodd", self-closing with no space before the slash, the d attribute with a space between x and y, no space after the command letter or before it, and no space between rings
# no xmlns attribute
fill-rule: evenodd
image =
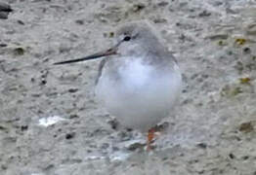
<svg viewBox="0 0 256 175"><path fill-rule="evenodd" d="M125 127L148 132L150 150L154 126L172 113L181 93L182 74L176 58L148 20L137 20L117 27L110 49L54 64L101 57L97 99Z"/></svg>

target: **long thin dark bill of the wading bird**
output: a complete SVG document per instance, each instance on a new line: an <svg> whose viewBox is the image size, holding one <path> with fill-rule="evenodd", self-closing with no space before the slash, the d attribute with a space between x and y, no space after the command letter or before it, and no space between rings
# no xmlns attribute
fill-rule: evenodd
<svg viewBox="0 0 256 175"><path fill-rule="evenodd" d="M111 54L116 54L116 48L111 48L111 49L109 49L105 52L91 54L91 55L81 57L81 58L78 58L78 59L71 59L71 60L65 60L65 61L61 61L61 62L55 62L54 65L86 61L86 60L96 59L96 58L100 58L100 57L111 55Z"/></svg>

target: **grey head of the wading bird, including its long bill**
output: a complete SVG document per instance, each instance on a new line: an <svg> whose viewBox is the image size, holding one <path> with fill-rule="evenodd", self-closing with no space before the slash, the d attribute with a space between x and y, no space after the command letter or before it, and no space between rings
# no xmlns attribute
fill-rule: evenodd
<svg viewBox="0 0 256 175"><path fill-rule="evenodd" d="M96 59L107 55L141 55L160 47L158 37L146 20L125 23L118 27L115 32L113 47L104 52L94 53L82 58L71 59L54 64L65 64L72 62Z"/></svg>

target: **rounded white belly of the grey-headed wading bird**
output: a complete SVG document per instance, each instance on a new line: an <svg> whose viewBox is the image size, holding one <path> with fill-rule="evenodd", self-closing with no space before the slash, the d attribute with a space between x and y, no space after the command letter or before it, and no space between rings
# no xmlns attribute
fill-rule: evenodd
<svg viewBox="0 0 256 175"><path fill-rule="evenodd" d="M124 126L148 130L167 117L181 90L181 74L157 72L140 60L119 67L120 79L112 79L104 70L96 88L97 97L107 111Z"/></svg>

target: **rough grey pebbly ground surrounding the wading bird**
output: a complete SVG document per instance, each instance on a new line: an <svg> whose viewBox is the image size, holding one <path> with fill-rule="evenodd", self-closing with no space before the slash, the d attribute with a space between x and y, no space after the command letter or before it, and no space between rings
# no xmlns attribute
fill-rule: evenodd
<svg viewBox="0 0 256 175"><path fill-rule="evenodd" d="M14 12L0 20L1 175L256 174L254 0L2 2ZM95 101L99 61L52 64L107 49L117 24L144 18L184 79L151 153Z"/></svg>

